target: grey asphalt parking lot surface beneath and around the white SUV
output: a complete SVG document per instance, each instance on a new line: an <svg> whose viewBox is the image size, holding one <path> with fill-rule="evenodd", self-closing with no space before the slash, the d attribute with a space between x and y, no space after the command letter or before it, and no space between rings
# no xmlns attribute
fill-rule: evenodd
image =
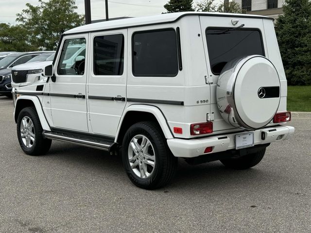
<svg viewBox="0 0 311 233"><path fill-rule="evenodd" d="M311 118L258 166L179 161L165 188L134 186L121 158L53 141L45 156L19 148L11 99L0 97L0 233L310 233Z"/></svg>

